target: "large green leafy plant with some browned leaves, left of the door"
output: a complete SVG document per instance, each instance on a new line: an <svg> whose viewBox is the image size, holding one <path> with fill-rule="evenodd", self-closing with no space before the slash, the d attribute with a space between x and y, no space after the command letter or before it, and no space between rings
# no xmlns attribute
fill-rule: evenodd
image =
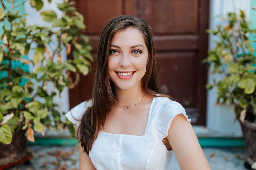
<svg viewBox="0 0 256 170"><path fill-rule="evenodd" d="M83 34L84 18L72 6L74 2L66 2L58 4L58 9L63 12L59 18L52 10L40 12L51 26L28 25L26 14L19 14L19 10L14 12L24 2L18 5L15 2L1 0L0 7L0 22L3 23L0 36L0 142L9 144L12 133L19 130L27 130L27 139L34 142L34 130L44 134L51 126L54 130L67 127L74 136L73 124L67 119L61 121L63 113L57 111L58 105L53 102L56 93L48 93L46 87L51 82L60 94L64 87L73 88L79 82L80 73L87 75L91 70L92 47L88 44L89 37ZM41 0L29 2L37 11L43 6ZM10 10L6 6L8 3ZM73 59L62 61L61 51L66 50L69 55L71 46L74 47ZM33 60L24 59L29 52L34 52ZM27 72L17 67L17 63L36 67L33 72ZM76 75L74 81L71 72ZM26 80L25 85L22 85L22 79ZM35 82L40 84L37 89L33 89Z"/></svg>

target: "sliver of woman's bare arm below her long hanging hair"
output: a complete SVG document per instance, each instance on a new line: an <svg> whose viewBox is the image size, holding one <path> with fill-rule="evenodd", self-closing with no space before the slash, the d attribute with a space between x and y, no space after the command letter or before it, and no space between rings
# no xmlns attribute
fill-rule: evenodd
<svg viewBox="0 0 256 170"><path fill-rule="evenodd" d="M91 158L87 153L83 152L81 144L79 144L79 170L97 170L91 161Z"/></svg>

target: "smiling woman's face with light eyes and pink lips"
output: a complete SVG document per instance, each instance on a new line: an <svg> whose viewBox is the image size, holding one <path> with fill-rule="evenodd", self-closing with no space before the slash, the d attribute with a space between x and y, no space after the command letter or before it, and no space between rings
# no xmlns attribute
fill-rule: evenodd
<svg viewBox="0 0 256 170"><path fill-rule="evenodd" d="M132 28L115 32L110 43L108 73L115 88L141 88L148 50L140 31Z"/></svg>

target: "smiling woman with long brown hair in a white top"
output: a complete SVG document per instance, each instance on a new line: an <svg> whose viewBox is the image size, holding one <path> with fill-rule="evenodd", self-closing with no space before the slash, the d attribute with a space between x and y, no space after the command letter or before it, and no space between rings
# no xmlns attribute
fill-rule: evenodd
<svg viewBox="0 0 256 170"><path fill-rule="evenodd" d="M66 113L76 123L80 169L210 169L184 108L161 94L148 24L110 20L100 33L92 99ZM80 121L81 120L81 121Z"/></svg>

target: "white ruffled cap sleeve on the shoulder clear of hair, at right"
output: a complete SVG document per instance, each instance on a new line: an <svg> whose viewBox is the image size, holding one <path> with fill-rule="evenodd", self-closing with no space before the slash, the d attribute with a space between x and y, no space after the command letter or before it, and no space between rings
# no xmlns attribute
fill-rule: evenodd
<svg viewBox="0 0 256 170"><path fill-rule="evenodd" d="M156 131L158 132L159 137L161 137L161 140L166 138L174 117L180 113L185 115L187 121L191 121L191 119L188 119L186 111L180 103L170 99L164 101L161 108L159 109L156 121Z"/></svg>

